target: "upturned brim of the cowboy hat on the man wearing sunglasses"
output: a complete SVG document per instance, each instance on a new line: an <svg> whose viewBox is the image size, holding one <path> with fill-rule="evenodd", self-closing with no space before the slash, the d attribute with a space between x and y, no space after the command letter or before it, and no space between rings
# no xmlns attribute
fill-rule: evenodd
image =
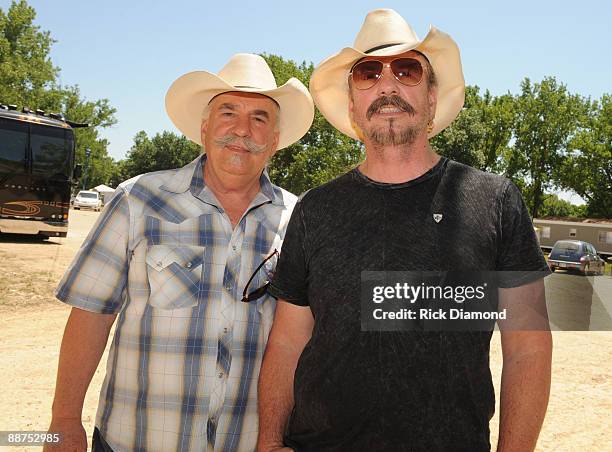
<svg viewBox="0 0 612 452"><path fill-rule="evenodd" d="M465 99L465 80L459 48L444 32L431 27L427 36L416 44L399 44L371 53L346 47L323 60L310 78L310 93L321 114L339 131L360 140L349 114L348 76L353 64L370 56L392 56L409 50L424 54L433 67L438 81L434 126L429 137L444 130L457 117Z"/></svg>

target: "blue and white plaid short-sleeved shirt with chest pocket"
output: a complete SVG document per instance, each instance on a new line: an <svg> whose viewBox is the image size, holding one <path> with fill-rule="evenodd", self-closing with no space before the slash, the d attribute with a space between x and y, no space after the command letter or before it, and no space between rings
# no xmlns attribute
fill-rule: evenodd
<svg viewBox="0 0 612 452"><path fill-rule="evenodd" d="M115 451L255 449L275 300L240 298L280 250L297 198L264 172L232 229L205 162L121 184L57 289L72 306L119 313L96 419Z"/></svg>

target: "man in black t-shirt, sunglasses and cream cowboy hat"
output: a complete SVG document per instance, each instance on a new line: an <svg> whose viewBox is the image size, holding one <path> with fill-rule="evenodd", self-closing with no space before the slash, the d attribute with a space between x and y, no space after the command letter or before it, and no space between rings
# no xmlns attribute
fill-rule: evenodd
<svg viewBox="0 0 612 452"><path fill-rule="evenodd" d="M360 300L362 272L453 270L506 271L499 305L540 310L529 325L541 331L502 332L498 450L533 450L550 385L548 269L518 189L429 145L463 105L457 45L433 27L420 41L395 11L372 11L310 90L366 158L293 211L270 286L279 302L259 381L259 450L490 450L491 331L405 328L426 316L372 330Z"/></svg>

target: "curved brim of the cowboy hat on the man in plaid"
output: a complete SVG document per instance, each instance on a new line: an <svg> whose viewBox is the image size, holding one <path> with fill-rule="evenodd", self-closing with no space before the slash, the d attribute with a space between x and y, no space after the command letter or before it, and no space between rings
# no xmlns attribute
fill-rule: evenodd
<svg viewBox="0 0 612 452"><path fill-rule="evenodd" d="M166 112L191 141L202 144L202 113L219 94L239 91L259 93L276 101L280 107L279 140L277 149L285 148L302 138L314 118L314 105L306 87L292 77L276 89L260 90L232 86L208 71L189 72L172 83L166 93Z"/></svg>

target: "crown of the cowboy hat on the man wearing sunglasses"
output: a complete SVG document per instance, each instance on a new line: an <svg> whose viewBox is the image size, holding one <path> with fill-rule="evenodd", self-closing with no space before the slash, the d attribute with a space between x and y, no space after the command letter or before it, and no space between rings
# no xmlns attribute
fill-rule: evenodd
<svg viewBox="0 0 612 452"><path fill-rule="evenodd" d="M412 27L392 9L375 9L366 16L353 47L369 53L393 44L418 44Z"/></svg>

